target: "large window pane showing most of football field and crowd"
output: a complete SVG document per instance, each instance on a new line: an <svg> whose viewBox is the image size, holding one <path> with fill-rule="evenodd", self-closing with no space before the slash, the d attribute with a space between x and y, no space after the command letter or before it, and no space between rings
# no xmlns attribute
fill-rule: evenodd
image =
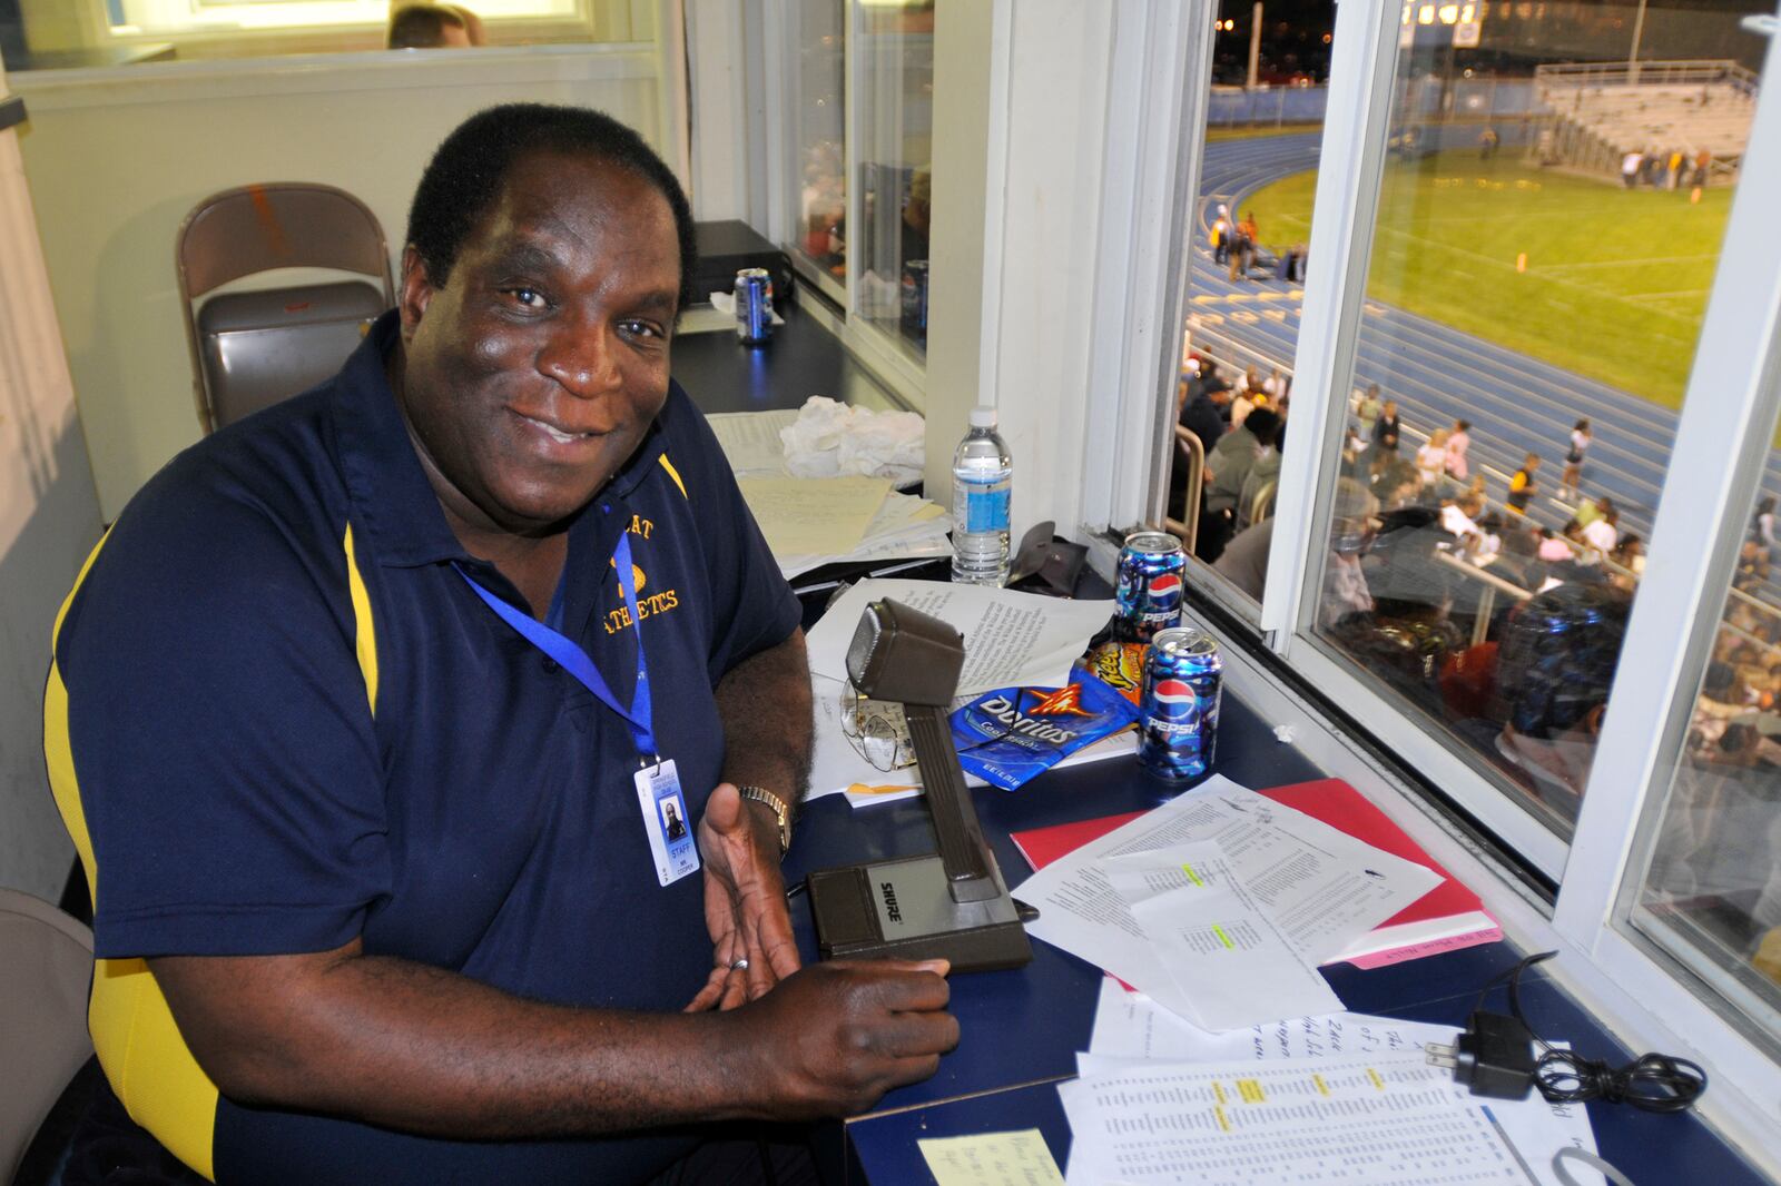
<svg viewBox="0 0 1781 1186"><path fill-rule="evenodd" d="M1765 48L1738 12L1701 11L1687 43L1699 57L1655 61L1683 50L1658 36L1674 23L1647 20L1635 45L1621 16L1403 7L1350 431L1309 611L1323 648L1564 837ZM1763 577L1756 593L1774 589Z"/></svg>

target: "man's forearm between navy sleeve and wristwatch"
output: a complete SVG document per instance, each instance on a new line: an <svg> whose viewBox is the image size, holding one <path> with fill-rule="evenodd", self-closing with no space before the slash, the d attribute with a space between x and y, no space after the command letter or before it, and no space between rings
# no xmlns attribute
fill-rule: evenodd
<svg viewBox="0 0 1781 1186"><path fill-rule="evenodd" d="M803 630L730 668L718 680L718 716L725 782L766 787L793 803L803 798L812 719Z"/></svg>

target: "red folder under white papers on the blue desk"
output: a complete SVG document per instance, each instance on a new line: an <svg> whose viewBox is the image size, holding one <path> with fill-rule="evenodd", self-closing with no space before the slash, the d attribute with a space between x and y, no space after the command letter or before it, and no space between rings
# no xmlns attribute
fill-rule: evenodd
<svg viewBox="0 0 1781 1186"><path fill-rule="evenodd" d="M1320 778L1289 787L1272 787L1259 794L1300 810L1313 819L1322 819L1332 828L1341 828L1373 848L1414 860L1441 874L1441 885L1380 922L1348 947L1348 951L1330 960L1330 963L1346 960L1357 967L1384 967L1386 963L1402 963L1403 960L1416 960L1441 951L1492 944L1503 937L1496 919L1484 908L1476 894L1437 865L1416 841L1403 835L1403 830L1391 823L1386 812L1378 810L1346 782ZM1126 812L1122 816L1102 816L1101 819L1083 819L1051 828L1033 828L1029 832L1015 832L1008 839L1015 842L1015 848L1021 849L1028 864L1040 869L1090 841L1099 841L1108 832L1131 823L1142 814Z"/></svg>

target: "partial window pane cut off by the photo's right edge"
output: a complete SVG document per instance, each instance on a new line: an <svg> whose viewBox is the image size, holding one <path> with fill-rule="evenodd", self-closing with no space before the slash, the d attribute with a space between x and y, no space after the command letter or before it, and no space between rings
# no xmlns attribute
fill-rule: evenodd
<svg viewBox="0 0 1781 1186"><path fill-rule="evenodd" d="M1758 495L1667 792L1653 796L1631 924L1781 1033L1781 630L1767 602L1776 483Z"/></svg>

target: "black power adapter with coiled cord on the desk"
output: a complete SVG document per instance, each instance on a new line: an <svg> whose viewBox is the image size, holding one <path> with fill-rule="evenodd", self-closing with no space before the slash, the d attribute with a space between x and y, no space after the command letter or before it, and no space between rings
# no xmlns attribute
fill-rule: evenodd
<svg viewBox="0 0 1781 1186"><path fill-rule="evenodd" d="M1699 1063L1672 1054L1642 1054L1630 1063L1612 1065L1565 1051L1541 1038L1521 1011L1521 972L1557 951L1530 954L1496 976L1478 992L1466 1031L1453 1045L1430 1042L1428 1061L1452 1067L1453 1077L1475 1095L1523 1099L1528 1088L1555 1104L1599 1099L1631 1104L1640 1111L1678 1113L1694 1108L1706 1092L1706 1070ZM1509 981L1509 1013L1484 1011L1491 988ZM1535 1054L1539 1047L1539 1054Z"/></svg>

